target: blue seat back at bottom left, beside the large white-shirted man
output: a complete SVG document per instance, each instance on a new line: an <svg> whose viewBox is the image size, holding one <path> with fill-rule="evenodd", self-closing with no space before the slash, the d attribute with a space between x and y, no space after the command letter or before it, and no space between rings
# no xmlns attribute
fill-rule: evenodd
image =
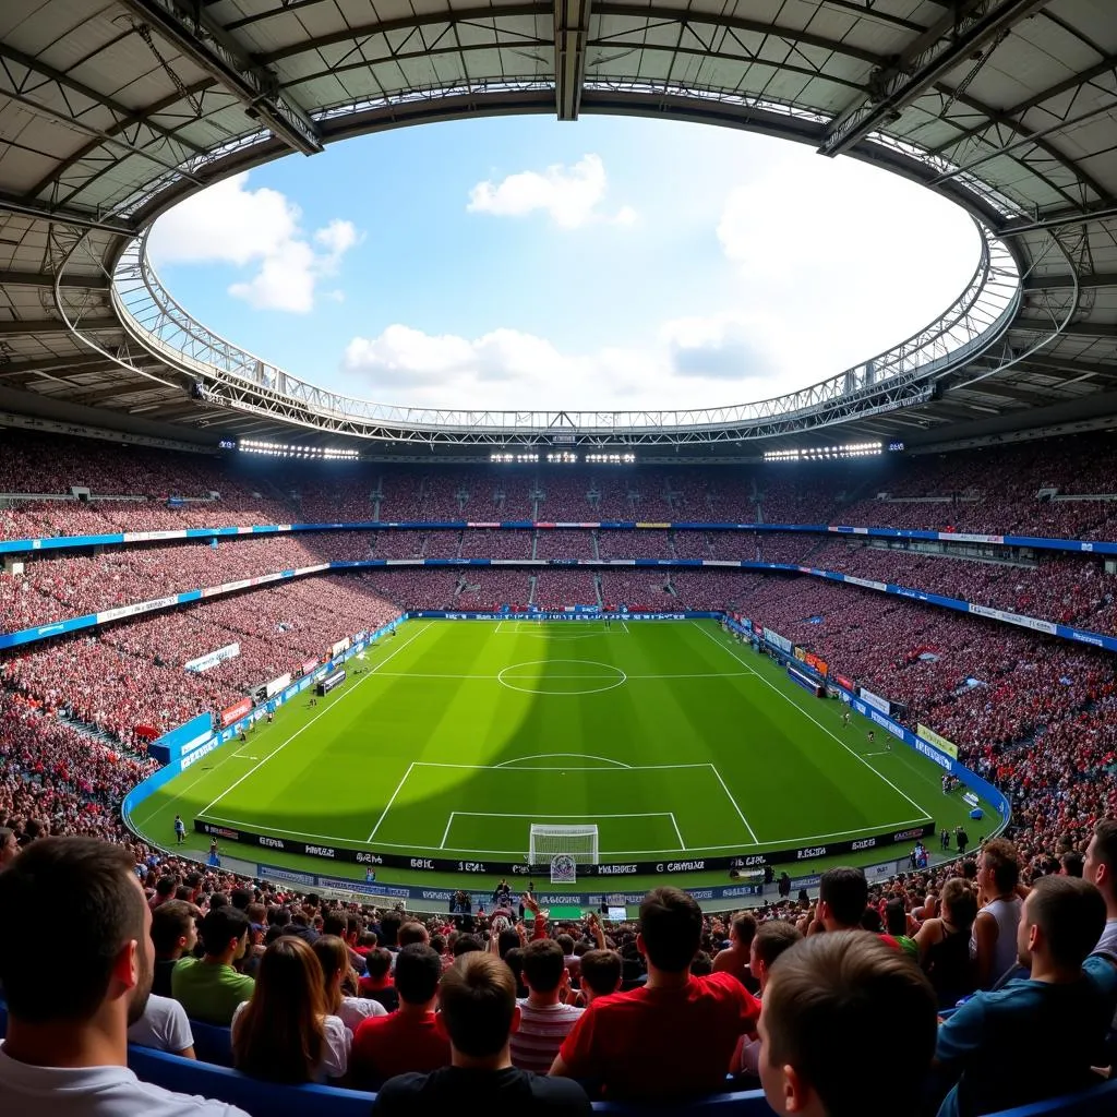
<svg viewBox="0 0 1117 1117"><path fill-rule="evenodd" d="M228 1067L128 1047L128 1066L145 1082L239 1106L252 1117L369 1117L373 1095L333 1086L276 1086Z"/></svg>

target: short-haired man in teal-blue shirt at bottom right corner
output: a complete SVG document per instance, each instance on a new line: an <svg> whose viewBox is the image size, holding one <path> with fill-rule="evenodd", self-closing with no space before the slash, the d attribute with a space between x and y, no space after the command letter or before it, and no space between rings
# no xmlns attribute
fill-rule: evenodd
<svg viewBox="0 0 1117 1117"><path fill-rule="evenodd" d="M1117 967L1094 949L1106 905L1078 877L1040 877L1023 904L1016 935L1031 976L976 993L938 1030L936 1063L957 1085L939 1117L976 1117L1042 1101L1097 1081L1117 1008ZM1027 1073L1006 1073L1034 1051ZM873 1066L879 1066L873 1060Z"/></svg>

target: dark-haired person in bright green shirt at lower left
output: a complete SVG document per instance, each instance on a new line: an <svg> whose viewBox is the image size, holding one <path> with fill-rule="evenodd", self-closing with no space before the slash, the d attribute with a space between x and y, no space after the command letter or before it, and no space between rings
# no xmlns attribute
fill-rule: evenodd
<svg viewBox="0 0 1117 1117"><path fill-rule="evenodd" d="M248 916L226 905L202 919L201 958L181 958L171 973L171 995L191 1020L228 1028L241 1001L252 995L256 982L233 968L245 956L251 925Z"/></svg>

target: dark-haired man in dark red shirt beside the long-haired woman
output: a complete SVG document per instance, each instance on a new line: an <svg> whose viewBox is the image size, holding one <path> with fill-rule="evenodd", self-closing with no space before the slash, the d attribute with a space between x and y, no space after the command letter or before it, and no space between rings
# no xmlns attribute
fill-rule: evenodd
<svg viewBox="0 0 1117 1117"><path fill-rule="evenodd" d="M450 1065L450 1042L435 1015L441 976L442 960L426 944L412 943L395 955L400 1006L388 1016L369 1016L357 1028L350 1053L355 1087L374 1090L395 1075Z"/></svg>

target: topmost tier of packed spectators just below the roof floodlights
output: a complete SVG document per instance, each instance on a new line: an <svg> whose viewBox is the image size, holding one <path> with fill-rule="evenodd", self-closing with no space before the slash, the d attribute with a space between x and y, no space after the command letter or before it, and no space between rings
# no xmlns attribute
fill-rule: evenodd
<svg viewBox="0 0 1117 1117"><path fill-rule="evenodd" d="M1110 443L1099 433L949 455L670 469L430 467L295 465L9 431L0 441L0 537L294 522L620 519L1114 538Z"/></svg>

